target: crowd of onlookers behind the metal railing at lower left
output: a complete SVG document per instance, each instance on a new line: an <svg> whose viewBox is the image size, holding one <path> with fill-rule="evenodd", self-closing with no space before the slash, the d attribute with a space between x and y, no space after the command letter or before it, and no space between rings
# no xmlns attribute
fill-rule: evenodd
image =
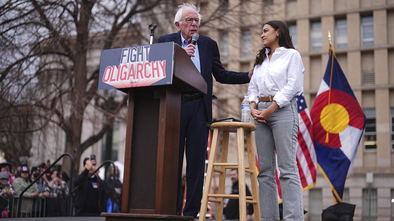
<svg viewBox="0 0 394 221"><path fill-rule="evenodd" d="M119 168L114 169L111 166L104 181L97 173L91 175L96 169L96 162L89 158L84 159L84 170L74 177L72 184L61 166L54 165L19 198L22 191L50 165L50 160L32 167L26 162L20 162L14 170L10 162L0 163L0 196L8 201L7 208L0 212L1 218L17 217L18 200L22 200L19 217L68 216L70 205L67 204L67 199L71 195L71 187L77 186L72 202L74 216L99 216L101 212L120 212L122 183L119 180Z"/></svg>

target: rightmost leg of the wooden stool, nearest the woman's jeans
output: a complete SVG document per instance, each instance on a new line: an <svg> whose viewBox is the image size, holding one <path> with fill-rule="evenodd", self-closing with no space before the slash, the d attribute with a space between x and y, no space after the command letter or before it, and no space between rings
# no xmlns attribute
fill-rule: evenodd
<svg viewBox="0 0 394 221"><path fill-rule="evenodd" d="M255 151L253 150L253 138L252 132L246 131L246 145L247 145L247 158L249 160L249 169L255 171L253 169L255 167ZM250 183L252 188L252 199L257 201L256 204L253 204L253 210L255 214L255 220L260 221L260 202L258 200L258 189L257 189L257 174L255 173L250 174Z"/></svg>

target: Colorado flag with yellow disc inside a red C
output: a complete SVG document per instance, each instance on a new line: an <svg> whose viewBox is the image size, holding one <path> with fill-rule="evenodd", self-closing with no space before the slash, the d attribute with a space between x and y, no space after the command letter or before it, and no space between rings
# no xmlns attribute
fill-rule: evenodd
<svg viewBox="0 0 394 221"><path fill-rule="evenodd" d="M342 203L345 180L357 153L365 115L350 88L333 47L310 111L318 167L331 184L335 203Z"/></svg>

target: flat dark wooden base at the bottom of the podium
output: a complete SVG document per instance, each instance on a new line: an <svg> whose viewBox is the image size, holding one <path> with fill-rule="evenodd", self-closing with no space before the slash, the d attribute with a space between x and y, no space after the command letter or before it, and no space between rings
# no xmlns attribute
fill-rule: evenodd
<svg viewBox="0 0 394 221"><path fill-rule="evenodd" d="M128 213L101 213L106 221L188 221L192 216L162 215L162 214L128 214Z"/></svg>

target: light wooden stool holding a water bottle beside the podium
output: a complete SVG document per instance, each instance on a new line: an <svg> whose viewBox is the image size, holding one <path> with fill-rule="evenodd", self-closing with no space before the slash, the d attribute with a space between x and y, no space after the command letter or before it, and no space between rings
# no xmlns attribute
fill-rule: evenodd
<svg viewBox="0 0 394 221"><path fill-rule="evenodd" d="M256 126L251 123L243 122L217 122L211 124L214 130L212 135L211 152L208 160L208 168L206 171L206 179L203 192L203 200L201 203L199 220L205 221L206 208L208 201L217 203L216 221L223 220L223 199L239 199L240 201L240 221L246 221L246 203L253 203L255 220L260 221L260 206L258 202L257 178L255 174L255 154L253 151L252 131L256 130ZM215 163L217 145L219 142L219 133L223 131L223 142L221 149L220 163ZM243 131L246 132L247 155L249 166L245 167L244 162L244 140ZM229 133L237 133L238 141L238 163L227 163L227 153L229 147ZM215 169L220 166L220 169ZM225 194L226 169L238 169L239 194ZM212 172L220 173L218 194L208 194L211 188ZM250 173L252 196L246 196L245 190L245 172ZM209 199L216 197L217 199Z"/></svg>

